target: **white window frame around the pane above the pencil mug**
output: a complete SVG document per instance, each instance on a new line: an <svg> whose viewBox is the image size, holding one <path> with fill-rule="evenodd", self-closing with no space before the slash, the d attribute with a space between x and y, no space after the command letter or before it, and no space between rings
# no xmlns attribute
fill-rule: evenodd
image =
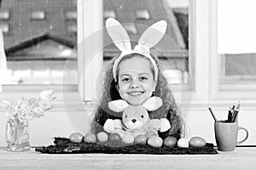
<svg viewBox="0 0 256 170"><path fill-rule="evenodd" d="M189 72L192 75L192 89L182 93L191 93L192 98L186 102L201 107L211 103L230 104L242 99L243 103L251 105L256 99L253 84L221 84L219 81L221 63L217 31L217 0L189 1Z"/></svg>

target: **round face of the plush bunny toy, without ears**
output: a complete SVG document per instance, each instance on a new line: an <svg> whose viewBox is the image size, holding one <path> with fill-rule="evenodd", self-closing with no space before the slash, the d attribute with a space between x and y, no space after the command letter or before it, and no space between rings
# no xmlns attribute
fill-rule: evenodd
<svg viewBox="0 0 256 170"><path fill-rule="evenodd" d="M123 113L123 124L131 130L142 129L148 124L148 111L143 106L129 105Z"/></svg>

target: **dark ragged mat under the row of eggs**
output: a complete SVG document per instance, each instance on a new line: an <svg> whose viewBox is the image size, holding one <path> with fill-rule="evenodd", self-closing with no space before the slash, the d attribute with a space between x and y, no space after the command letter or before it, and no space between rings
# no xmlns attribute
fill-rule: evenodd
<svg viewBox="0 0 256 170"><path fill-rule="evenodd" d="M35 150L44 154L155 154L155 155L193 155L193 154L218 154L213 144L207 143L203 147L170 148L162 146L155 148L148 144L124 145L120 142L105 142L102 144L73 143L67 138L55 138L55 145L36 147Z"/></svg>

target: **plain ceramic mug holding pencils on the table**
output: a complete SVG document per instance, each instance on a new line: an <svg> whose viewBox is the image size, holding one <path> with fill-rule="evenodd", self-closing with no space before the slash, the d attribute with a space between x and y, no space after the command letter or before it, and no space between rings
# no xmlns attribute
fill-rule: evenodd
<svg viewBox="0 0 256 170"><path fill-rule="evenodd" d="M239 130L246 132L246 137L237 141ZM239 127L238 122L218 121L214 122L214 133L218 150L231 151L235 150L236 145L243 143L248 138L248 131L245 127Z"/></svg>

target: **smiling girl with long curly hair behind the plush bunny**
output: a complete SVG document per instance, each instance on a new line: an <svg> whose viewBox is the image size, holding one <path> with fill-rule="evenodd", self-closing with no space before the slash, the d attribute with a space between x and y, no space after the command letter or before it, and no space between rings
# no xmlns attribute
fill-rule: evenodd
<svg viewBox="0 0 256 170"><path fill-rule="evenodd" d="M155 58L154 58L155 59ZM114 61L114 59L113 59ZM108 65L104 75L104 87L100 105L91 124L91 132L104 131L103 125L107 119L122 119L122 115L108 108L108 102L124 99L131 105L141 105L152 96L162 99L163 105L156 111L149 113L149 118L167 118L171 123L171 129L165 133L159 133L160 137L172 135L176 139L181 138L183 119L172 96L166 77L163 75L157 60L158 79L155 80L154 67L150 60L142 54L128 54L119 61L117 78L113 78L113 61Z"/></svg>

